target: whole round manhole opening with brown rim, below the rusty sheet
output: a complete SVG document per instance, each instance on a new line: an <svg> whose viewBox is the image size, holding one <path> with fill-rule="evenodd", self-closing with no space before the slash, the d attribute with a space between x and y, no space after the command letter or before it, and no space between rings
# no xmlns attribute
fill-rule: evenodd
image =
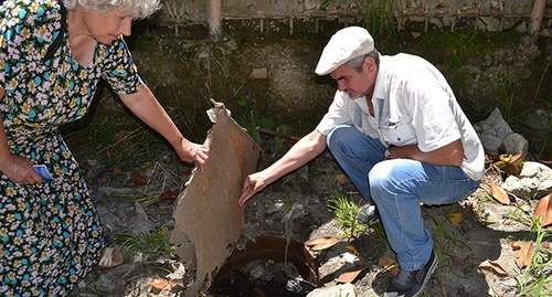
<svg viewBox="0 0 552 297"><path fill-rule="evenodd" d="M306 296L318 286L318 265L302 243L256 236L245 250L234 250L216 274L214 296Z"/></svg>

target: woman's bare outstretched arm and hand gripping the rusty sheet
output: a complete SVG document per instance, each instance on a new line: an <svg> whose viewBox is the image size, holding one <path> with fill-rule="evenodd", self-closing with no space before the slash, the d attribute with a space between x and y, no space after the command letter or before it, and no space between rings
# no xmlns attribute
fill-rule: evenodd
<svg viewBox="0 0 552 297"><path fill-rule="evenodd" d="M119 97L136 116L171 144L182 161L197 162L202 171L205 169L209 160L208 148L193 144L182 136L147 85L144 85L138 93Z"/></svg>

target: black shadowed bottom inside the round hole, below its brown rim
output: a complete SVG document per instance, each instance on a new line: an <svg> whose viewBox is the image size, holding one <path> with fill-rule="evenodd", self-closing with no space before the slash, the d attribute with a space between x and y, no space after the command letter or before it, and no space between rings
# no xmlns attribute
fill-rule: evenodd
<svg viewBox="0 0 552 297"><path fill-rule="evenodd" d="M288 264L289 265L289 264ZM244 266L231 271L214 289L216 297L305 297L315 287L312 284L291 279L280 265ZM256 273L255 273L256 272ZM258 277L253 277L256 274ZM291 287L291 290L288 289Z"/></svg>

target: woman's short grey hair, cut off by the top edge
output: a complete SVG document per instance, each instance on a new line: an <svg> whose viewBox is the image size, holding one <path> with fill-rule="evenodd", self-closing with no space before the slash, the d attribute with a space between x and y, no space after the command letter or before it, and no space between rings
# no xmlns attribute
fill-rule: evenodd
<svg viewBox="0 0 552 297"><path fill-rule="evenodd" d="M160 0L63 0L67 10L79 4L99 12L110 13L114 8L128 12L135 19L145 19L161 8Z"/></svg>

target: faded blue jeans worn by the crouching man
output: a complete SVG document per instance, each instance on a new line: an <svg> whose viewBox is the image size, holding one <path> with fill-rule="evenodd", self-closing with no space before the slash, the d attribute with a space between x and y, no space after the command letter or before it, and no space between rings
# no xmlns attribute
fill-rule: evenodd
<svg viewBox="0 0 552 297"><path fill-rule="evenodd" d="M359 192L378 208L388 241L403 269L422 268L433 250L420 203L456 203L480 183L456 166L383 160L385 147L350 125L337 126L328 134L328 148Z"/></svg>

